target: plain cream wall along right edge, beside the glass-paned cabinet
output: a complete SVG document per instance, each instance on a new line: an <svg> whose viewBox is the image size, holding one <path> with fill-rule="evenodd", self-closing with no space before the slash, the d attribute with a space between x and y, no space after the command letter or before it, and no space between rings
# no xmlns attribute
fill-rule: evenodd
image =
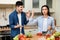
<svg viewBox="0 0 60 40"><path fill-rule="evenodd" d="M54 5L54 9L55 9L55 19L56 19L56 24L57 26L60 26L60 0L55 0L55 5Z"/></svg>

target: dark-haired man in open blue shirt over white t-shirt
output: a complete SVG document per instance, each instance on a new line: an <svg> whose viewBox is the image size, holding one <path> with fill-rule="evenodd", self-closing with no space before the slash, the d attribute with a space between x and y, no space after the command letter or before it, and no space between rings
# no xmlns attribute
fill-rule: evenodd
<svg viewBox="0 0 60 40"><path fill-rule="evenodd" d="M24 33L24 25L28 23L26 15L23 12L23 3L21 1L16 2L16 10L9 15L9 24L11 27L11 37L13 38L22 33ZM20 31L20 27L22 28Z"/></svg>

